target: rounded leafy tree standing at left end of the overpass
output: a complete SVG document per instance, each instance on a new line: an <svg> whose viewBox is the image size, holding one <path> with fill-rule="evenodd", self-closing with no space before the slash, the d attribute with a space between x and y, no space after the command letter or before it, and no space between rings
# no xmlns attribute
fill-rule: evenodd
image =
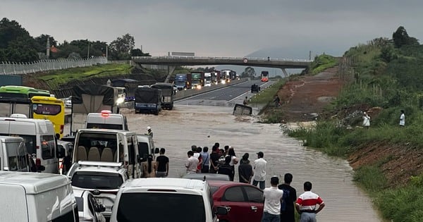
<svg viewBox="0 0 423 222"><path fill-rule="evenodd" d="M110 43L110 56L112 60L130 59L130 51L135 47L135 39L129 33L118 37Z"/></svg>

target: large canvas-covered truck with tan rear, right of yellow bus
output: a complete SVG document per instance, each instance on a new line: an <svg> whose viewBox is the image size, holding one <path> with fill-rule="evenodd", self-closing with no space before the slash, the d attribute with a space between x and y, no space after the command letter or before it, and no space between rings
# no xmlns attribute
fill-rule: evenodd
<svg viewBox="0 0 423 222"><path fill-rule="evenodd" d="M118 89L104 85L75 85L72 88L71 135L84 129L88 113L109 110L119 113Z"/></svg>

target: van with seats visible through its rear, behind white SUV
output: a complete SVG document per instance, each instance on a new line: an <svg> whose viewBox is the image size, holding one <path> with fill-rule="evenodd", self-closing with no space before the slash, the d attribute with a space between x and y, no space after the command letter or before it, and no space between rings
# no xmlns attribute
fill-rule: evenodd
<svg viewBox="0 0 423 222"><path fill-rule="evenodd" d="M78 161L123 163L128 170L129 178L141 177L140 154L135 132L108 129L78 130L73 147L72 163ZM73 168L74 166L70 171L73 171Z"/></svg>

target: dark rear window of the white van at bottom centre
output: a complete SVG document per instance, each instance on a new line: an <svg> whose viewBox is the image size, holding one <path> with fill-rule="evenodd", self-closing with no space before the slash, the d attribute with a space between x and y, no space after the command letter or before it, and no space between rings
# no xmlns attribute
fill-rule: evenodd
<svg viewBox="0 0 423 222"><path fill-rule="evenodd" d="M142 211L140 211L142 209ZM166 214L163 210L166 209ZM206 221L201 195L172 193L123 193L117 221Z"/></svg>

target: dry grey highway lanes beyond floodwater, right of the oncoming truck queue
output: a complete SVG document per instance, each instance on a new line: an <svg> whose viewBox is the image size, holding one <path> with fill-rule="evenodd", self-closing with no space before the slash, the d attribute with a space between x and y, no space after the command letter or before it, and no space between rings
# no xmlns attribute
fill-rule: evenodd
<svg viewBox="0 0 423 222"><path fill-rule="evenodd" d="M250 99L250 97L255 95L255 93L251 93L251 85L254 83L264 90L273 82L261 82L260 80L241 82L237 85L231 85L229 87L178 100L176 104L203 106L234 106L235 104L242 104L245 97Z"/></svg>

